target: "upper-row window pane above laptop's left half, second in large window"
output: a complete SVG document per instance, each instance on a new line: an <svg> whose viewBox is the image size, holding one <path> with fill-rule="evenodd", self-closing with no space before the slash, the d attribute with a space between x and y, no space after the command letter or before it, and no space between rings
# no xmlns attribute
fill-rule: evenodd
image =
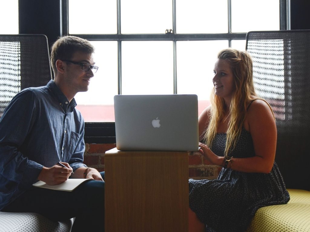
<svg viewBox="0 0 310 232"><path fill-rule="evenodd" d="M172 1L122 0L121 23L122 34L164 34L172 29Z"/></svg>

